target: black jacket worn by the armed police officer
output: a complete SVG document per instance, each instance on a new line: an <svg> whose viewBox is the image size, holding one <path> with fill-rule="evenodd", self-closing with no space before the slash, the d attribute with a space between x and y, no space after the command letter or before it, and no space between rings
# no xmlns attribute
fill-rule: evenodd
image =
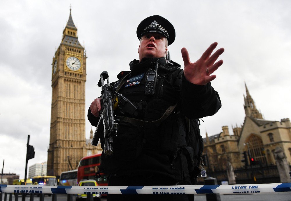
<svg viewBox="0 0 291 201"><path fill-rule="evenodd" d="M146 96L144 95L145 73L149 68L153 69L156 62L159 63L159 66L155 95ZM189 141L193 141L192 146L197 144L194 155L198 155L199 142L197 141L201 141L202 138L197 119L211 116L221 108L219 95L210 83L200 86L188 82L184 78L180 65L174 62L167 64L164 58L143 59L141 63L134 60L129 65L130 78L132 78L129 80L139 83L130 85L133 82L127 82L120 88L119 93L136 105L139 105L141 100L144 101L141 112L134 118L155 121L164 114L170 105L178 104L175 111L159 125L138 126L121 121L117 137L113 139L114 154L111 157L102 154L99 169L102 172L116 175L156 173L183 180L185 175L182 172L185 171L185 167L182 167L182 158L177 155L177 151L180 149L179 147L188 146ZM127 73L124 73L123 76ZM141 77L142 79L140 79ZM112 85L116 88L118 82L113 82ZM121 116L122 114L117 109L115 115ZM191 125L187 125L181 117L193 119L190 121ZM93 126L96 126L99 118L93 116L89 109L88 120ZM189 133L189 130L195 132L199 138L187 138L186 134L187 142L184 142L183 135L185 134L183 132ZM102 137L100 138L102 139Z"/></svg>

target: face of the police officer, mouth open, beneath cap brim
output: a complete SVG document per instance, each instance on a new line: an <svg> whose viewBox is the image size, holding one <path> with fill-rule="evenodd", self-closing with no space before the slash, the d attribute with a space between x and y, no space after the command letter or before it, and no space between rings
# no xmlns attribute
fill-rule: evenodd
<svg viewBox="0 0 291 201"><path fill-rule="evenodd" d="M142 58L159 58L165 56L166 37L160 33L149 32L141 37L141 44L139 45L139 60Z"/></svg>

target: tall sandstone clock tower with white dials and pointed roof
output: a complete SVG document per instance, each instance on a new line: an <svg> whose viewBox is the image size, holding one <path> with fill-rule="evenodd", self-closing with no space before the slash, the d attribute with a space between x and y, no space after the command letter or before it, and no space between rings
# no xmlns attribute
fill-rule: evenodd
<svg viewBox="0 0 291 201"><path fill-rule="evenodd" d="M58 176L63 171L74 169L80 159L86 156L85 82L86 53L78 41L70 9L61 44L52 60L52 113L47 175Z"/></svg>

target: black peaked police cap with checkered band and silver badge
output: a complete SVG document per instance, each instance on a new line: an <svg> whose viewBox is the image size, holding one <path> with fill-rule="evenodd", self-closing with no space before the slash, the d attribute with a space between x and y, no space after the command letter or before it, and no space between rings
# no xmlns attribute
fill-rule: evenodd
<svg viewBox="0 0 291 201"><path fill-rule="evenodd" d="M140 40L141 37L148 32L157 32L163 34L168 45L171 45L176 37L175 28L167 19L159 15L153 15L145 18L136 29L136 35Z"/></svg>

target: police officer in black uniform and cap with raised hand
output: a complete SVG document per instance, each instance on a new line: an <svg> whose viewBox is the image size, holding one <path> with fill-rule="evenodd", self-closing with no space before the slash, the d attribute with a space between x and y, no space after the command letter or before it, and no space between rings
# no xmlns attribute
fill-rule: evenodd
<svg viewBox="0 0 291 201"><path fill-rule="evenodd" d="M179 64L168 61L168 45L175 40L175 29L167 19L159 15L147 17L136 33L140 40L139 60L130 62L130 71L120 72L118 80L111 84L138 110L129 114L118 98L114 100L114 114L120 119L117 135L113 137L114 152L110 157L102 152L99 169L108 175L109 186L195 185L203 151L198 119L221 108L219 95L210 81L216 77L212 73L223 63L216 60L224 49L212 54L217 46L214 42L192 63L187 49L182 48L182 70ZM99 121L101 109L101 98L96 98L88 110L93 126ZM103 130L101 133L98 138L102 144ZM108 201L149 199L194 200L194 195L108 195L107 198Z"/></svg>

